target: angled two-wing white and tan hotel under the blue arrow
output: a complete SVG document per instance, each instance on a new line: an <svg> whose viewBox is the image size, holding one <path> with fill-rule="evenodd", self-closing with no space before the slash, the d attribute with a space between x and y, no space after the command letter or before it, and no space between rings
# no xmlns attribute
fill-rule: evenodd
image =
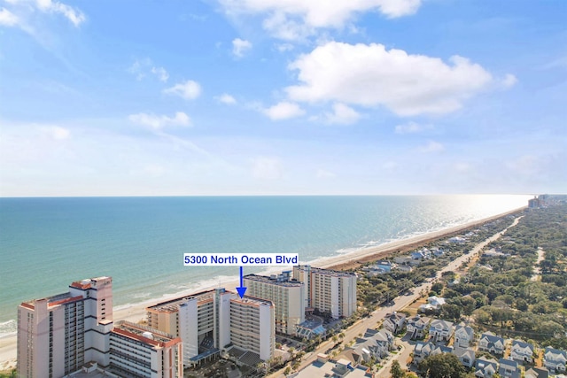
<svg viewBox="0 0 567 378"><path fill-rule="evenodd" d="M152 305L146 313L149 327L181 337L185 366L212 358L229 344L240 356L250 354L245 358L274 355L275 306L267 300L213 289Z"/></svg>

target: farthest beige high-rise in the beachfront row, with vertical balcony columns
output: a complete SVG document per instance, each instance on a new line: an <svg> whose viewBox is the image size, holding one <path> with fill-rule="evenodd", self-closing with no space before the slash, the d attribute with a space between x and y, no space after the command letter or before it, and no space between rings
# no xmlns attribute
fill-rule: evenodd
<svg viewBox="0 0 567 378"><path fill-rule="evenodd" d="M307 310L328 312L334 319L356 312L356 274L300 265L293 266L293 279L305 284Z"/></svg>

